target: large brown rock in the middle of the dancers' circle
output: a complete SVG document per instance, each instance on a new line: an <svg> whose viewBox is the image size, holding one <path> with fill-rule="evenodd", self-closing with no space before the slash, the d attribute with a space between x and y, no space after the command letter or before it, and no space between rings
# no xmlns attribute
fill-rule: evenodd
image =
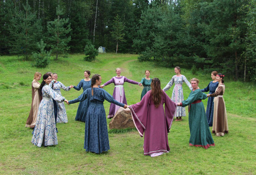
<svg viewBox="0 0 256 175"><path fill-rule="evenodd" d="M135 128L129 108L120 107L109 123L111 129Z"/></svg>

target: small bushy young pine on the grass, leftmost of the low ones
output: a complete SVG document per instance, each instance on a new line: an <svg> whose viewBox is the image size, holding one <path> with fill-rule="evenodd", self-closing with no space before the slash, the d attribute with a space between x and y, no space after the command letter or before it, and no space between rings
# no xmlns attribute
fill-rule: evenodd
<svg viewBox="0 0 256 175"><path fill-rule="evenodd" d="M35 67L38 68L45 68L48 66L50 62L50 54L51 51L48 52L45 50L46 44L44 41L41 39L40 43L37 43L38 48L40 52L33 53L33 58L35 59Z"/></svg>

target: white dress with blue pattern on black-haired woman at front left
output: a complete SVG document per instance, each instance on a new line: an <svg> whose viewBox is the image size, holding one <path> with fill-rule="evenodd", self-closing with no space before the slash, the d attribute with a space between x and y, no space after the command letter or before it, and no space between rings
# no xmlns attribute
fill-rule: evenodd
<svg viewBox="0 0 256 175"><path fill-rule="evenodd" d="M42 97L38 108L37 123L31 142L41 147L58 144L54 118L53 100L63 102L65 98L52 90L49 85L42 88Z"/></svg>

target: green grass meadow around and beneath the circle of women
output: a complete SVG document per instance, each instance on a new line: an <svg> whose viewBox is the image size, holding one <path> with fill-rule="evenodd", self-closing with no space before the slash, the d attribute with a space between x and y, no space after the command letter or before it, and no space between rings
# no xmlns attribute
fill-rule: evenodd
<svg viewBox="0 0 256 175"><path fill-rule="evenodd" d="M170 152L155 158L143 155L143 138L136 130L109 132L110 150L93 154L83 149L84 123L75 121L77 104L66 106L68 123L57 124L57 146L37 147L31 144L32 130L25 127L31 106L31 81L35 71L42 74L57 72L59 81L65 85L77 85L83 79L84 70L91 75L99 73L105 83L115 76L115 68L121 75L140 81L149 69L151 77L161 80L161 87L174 75L173 68L162 68L150 62L139 62L138 55L99 54L93 62L83 61L84 55L69 55L68 58L51 60L48 68L34 68L32 62L19 60L16 56L0 56L0 174L120 174L120 175L255 175L256 174L256 88L252 83L242 83L225 77L226 103L229 134L213 135L215 147L205 150L191 147L189 141L188 111L181 122L174 122L169 133ZM182 69L181 73L200 80L204 88L211 81L210 72ZM40 80L41 81L41 80ZM113 93L114 85L105 90ZM142 87L124 84L128 104L140 101ZM173 87L167 91L171 96ZM185 99L189 88L184 84ZM68 99L78 97L82 90L61 91ZM203 100L206 107L207 100ZM110 104L104 102L106 114ZM108 123L110 122L107 119ZM210 127L211 129L211 127Z"/></svg>

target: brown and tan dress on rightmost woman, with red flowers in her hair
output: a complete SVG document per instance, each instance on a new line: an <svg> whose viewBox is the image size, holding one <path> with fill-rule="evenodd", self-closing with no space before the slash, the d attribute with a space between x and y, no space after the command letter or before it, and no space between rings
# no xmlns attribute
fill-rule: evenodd
<svg viewBox="0 0 256 175"><path fill-rule="evenodd" d="M227 112L226 106L223 99L225 92L225 85L220 84L213 94L210 94L214 98L214 112L213 112L213 123L212 133L216 136L223 136L225 133L229 133L229 127L227 125Z"/></svg>

